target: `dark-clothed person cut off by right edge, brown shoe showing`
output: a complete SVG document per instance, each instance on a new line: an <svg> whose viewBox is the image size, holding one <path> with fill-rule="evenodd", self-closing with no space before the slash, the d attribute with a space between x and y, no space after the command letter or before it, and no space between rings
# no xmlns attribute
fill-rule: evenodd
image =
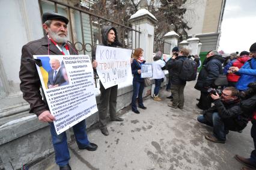
<svg viewBox="0 0 256 170"><path fill-rule="evenodd" d="M254 150L251 152L249 158L245 158L239 155L236 155L235 158L243 163L244 165L250 167L243 167L242 169L256 169L256 82L248 84L248 90L241 93L241 98L243 99L240 102L240 108L243 111L243 114L249 117L252 123L251 136L254 141Z"/></svg>

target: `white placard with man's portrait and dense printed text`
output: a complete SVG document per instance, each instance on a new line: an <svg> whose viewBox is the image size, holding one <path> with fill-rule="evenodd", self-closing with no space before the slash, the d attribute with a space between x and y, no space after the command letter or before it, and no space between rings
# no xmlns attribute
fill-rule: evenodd
<svg viewBox="0 0 256 170"><path fill-rule="evenodd" d="M98 111L93 67L88 55L34 55L37 71L59 135ZM49 63L52 64L49 64ZM56 71L56 73L55 73Z"/></svg>

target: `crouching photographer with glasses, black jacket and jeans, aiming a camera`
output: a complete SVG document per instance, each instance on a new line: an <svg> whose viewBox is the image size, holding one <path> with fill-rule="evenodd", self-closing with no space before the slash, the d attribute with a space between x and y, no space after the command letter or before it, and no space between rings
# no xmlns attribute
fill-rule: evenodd
<svg viewBox="0 0 256 170"><path fill-rule="evenodd" d="M248 118L241 112L239 91L236 88L226 87L221 95L219 93L219 91L212 90L210 96L214 106L204 110L203 115L198 116L197 120L213 127L213 135L205 136L207 140L224 144L228 130L243 130L248 123Z"/></svg>

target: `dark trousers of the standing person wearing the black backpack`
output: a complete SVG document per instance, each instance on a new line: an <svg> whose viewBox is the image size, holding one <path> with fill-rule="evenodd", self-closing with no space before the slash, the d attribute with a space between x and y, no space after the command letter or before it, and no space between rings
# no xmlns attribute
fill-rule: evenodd
<svg viewBox="0 0 256 170"><path fill-rule="evenodd" d="M173 106L184 106L184 88L185 85L174 85L171 86L171 94L173 97Z"/></svg>

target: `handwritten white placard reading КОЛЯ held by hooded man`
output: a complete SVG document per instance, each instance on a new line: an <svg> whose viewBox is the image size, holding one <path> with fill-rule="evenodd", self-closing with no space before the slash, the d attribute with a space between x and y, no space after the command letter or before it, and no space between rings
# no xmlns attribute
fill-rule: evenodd
<svg viewBox="0 0 256 170"><path fill-rule="evenodd" d="M130 57L132 50L107 46L97 46L97 73L104 88L126 82L132 76Z"/></svg>

